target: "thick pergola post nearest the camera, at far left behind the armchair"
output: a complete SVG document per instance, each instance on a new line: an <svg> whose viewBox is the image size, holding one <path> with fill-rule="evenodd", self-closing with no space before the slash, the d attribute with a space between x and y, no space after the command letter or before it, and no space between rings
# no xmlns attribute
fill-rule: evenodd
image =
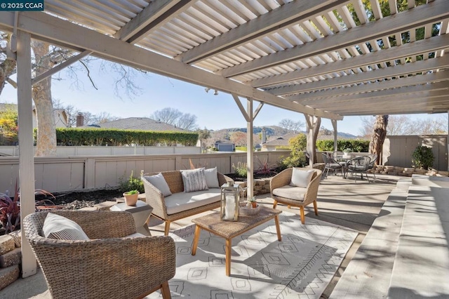
<svg viewBox="0 0 449 299"><path fill-rule="evenodd" d="M32 122L32 74L31 35L18 31L17 51L18 82L18 140L19 140L19 180L20 180L20 227L23 218L34 213L34 147ZM36 258L22 229L22 277L36 274Z"/></svg>

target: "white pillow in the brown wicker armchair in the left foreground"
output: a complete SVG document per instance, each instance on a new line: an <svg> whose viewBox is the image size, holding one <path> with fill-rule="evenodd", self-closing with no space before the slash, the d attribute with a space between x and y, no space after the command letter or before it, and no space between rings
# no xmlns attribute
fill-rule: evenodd
<svg viewBox="0 0 449 299"><path fill-rule="evenodd" d="M59 240L88 240L87 234L76 222L61 215L48 213L43 221L43 235Z"/></svg>

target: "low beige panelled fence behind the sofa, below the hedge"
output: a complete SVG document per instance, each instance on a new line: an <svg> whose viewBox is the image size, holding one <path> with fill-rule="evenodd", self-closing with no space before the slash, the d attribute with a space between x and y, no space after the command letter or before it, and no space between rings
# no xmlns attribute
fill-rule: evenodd
<svg viewBox="0 0 449 299"><path fill-rule="evenodd" d="M260 163L277 164L288 151L255 152L254 167ZM173 171L206 166L217 166L220 173L232 173L232 165L246 163L246 152L214 154L153 154L121 156L35 157L35 187L48 192L91 191L112 189L126 180L131 172ZM260 161L260 162L259 162ZM0 192L10 190L19 181L19 158L0 157Z"/></svg>

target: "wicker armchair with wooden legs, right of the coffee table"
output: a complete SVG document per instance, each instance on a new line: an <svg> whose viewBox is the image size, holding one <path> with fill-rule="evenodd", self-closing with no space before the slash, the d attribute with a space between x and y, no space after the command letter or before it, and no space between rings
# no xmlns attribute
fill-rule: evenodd
<svg viewBox="0 0 449 299"><path fill-rule="evenodd" d="M303 170L310 170L309 168L302 168ZM276 188L280 188L283 186L287 186L290 184L293 168L287 168L284 171L274 175L270 182L270 192L272 194L272 199L274 199L273 208L276 208L277 204L286 204L288 208L290 206L299 206L300 207L300 217L301 222L304 224L304 206L308 204L314 204L315 215L318 215L318 207L316 206L316 197L318 196L318 187L321 182L321 174L322 171L319 169L313 169L315 171L314 175L312 175L309 185L307 185L306 192L304 194L304 200L300 201L297 199L289 199L286 197L279 197L273 194L273 190Z"/></svg>

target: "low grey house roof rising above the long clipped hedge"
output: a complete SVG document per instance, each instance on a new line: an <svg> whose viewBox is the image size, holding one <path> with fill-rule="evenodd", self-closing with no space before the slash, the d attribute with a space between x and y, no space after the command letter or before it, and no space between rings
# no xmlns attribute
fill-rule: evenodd
<svg viewBox="0 0 449 299"><path fill-rule="evenodd" d="M121 130L144 130L144 131L185 131L176 128L162 121L155 121L147 117L128 117L127 119L117 119L95 126L82 126L79 128L118 128Z"/></svg>

